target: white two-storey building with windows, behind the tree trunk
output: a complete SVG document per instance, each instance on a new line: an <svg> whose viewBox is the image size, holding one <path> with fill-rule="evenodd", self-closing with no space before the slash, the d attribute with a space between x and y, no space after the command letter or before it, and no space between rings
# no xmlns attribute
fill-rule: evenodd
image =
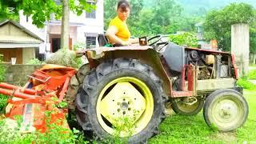
<svg viewBox="0 0 256 144"><path fill-rule="evenodd" d="M78 42L85 42L86 48L98 46L98 34L103 34L104 19L103 19L103 0L87 1L91 5L96 5L96 10L91 13L84 12L77 16L70 11L70 49ZM39 54L53 53L60 48L61 25L62 22L54 19L52 15L50 22L45 22L42 29L32 24L32 18L27 18L20 11L20 24L38 37L44 40L39 48Z"/></svg>

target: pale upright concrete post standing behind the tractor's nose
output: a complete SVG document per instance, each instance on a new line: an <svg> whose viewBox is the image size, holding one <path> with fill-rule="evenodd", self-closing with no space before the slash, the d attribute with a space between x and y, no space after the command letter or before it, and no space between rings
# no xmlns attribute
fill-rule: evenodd
<svg viewBox="0 0 256 144"><path fill-rule="evenodd" d="M240 23L231 26L231 53L235 55L239 77L248 74L250 33L247 24Z"/></svg>

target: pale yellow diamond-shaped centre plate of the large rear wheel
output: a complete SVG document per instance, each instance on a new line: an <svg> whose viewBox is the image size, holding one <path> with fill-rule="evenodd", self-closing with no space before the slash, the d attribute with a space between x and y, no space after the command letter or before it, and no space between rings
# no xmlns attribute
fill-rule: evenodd
<svg viewBox="0 0 256 144"><path fill-rule="evenodd" d="M145 98L130 82L118 82L101 102L101 114L113 125L123 116L136 122L145 108Z"/></svg>

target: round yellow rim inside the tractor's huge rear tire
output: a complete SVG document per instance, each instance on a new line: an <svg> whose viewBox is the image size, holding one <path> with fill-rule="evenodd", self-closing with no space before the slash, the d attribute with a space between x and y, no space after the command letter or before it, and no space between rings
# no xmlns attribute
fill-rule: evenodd
<svg viewBox="0 0 256 144"><path fill-rule="evenodd" d="M142 131L150 122L154 111L154 98L149 87L138 78L117 78L102 89L96 111L98 122L109 134L114 134L118 121L128 118L132 132L127 134L121 131L119 136L132 136Z"/></svg>

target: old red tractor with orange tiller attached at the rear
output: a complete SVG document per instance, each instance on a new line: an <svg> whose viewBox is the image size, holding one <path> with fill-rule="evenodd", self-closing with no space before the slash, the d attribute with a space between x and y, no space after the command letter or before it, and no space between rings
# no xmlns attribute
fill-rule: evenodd
<svg viewBox="0 0 256 144"><path fill-rule="evenodd" d="M42 111L56 110L53 122L65 119L68 110L49 103L66 101L75 110L78 126L98 139L114 134L118 118L130 118L129 143L144 143L159 133L167 102L182 115L203 109L206 123L220 131L246 122L248 104L242 87L236 85L233 54L178 46L164 42L161 35L139 38L139 46L106 47L103 34L98 42L97 48L77 52L88 59L78 70L46 65L23 87L0 83L0 93L13 96L6 117L23 115L27 124L43 132L47 127ZM32 121L34 117L41 119Z"/></svg>

